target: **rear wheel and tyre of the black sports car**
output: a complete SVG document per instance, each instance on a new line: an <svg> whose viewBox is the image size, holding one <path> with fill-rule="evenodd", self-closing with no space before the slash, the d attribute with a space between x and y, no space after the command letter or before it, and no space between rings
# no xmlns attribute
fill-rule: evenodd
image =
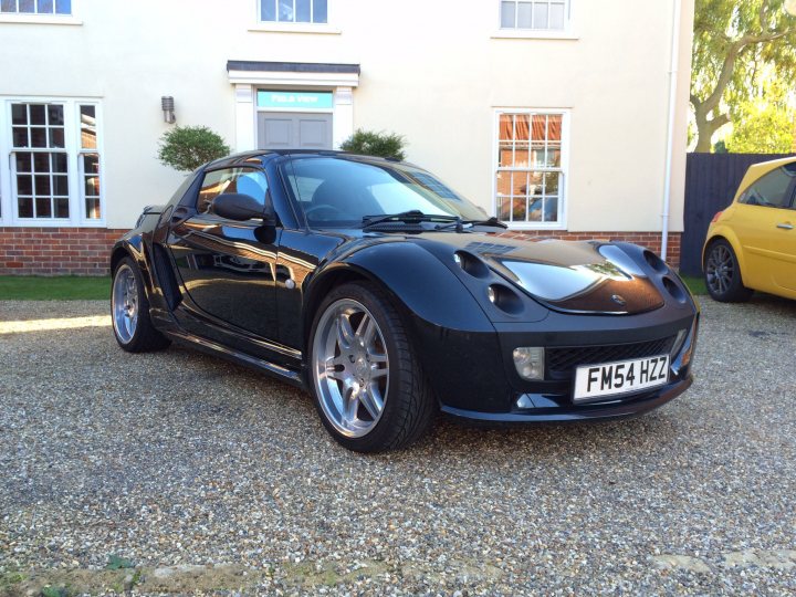
<svg viewBox="0 0 796 597"><path fill-rule="evenodd" d="M129 256L119 261L113 272L111 320L116 342L128 353L163 350L171 344L151 323L144 281Z"/></svg>

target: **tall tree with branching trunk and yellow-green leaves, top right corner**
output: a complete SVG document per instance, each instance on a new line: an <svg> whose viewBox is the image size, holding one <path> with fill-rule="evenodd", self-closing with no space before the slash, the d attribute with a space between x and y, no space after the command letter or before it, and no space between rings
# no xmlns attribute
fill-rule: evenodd
<svg viewBox="0 0 796 597"><path fill-rule="evenodd" d="M796 18L784 0L696 0L691 104L696 151L710 151L719 128L742 115L763 72L796 75ZM766 65L766 69L763 66Z"/></svg>

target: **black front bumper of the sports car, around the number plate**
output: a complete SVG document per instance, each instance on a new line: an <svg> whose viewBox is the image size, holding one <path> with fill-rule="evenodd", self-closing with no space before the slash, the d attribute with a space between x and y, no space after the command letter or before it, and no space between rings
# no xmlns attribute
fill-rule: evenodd
<svg viewBox="0 0 796 597"><path fill-rule="evenodd" d="M692 305L616 318L551 313L541 322L496 324L495 333L491 334L416 323L420 360L442 412L481 422L578 421L641 415L685 391L692 384L699 310ZM678 348L674 337L680 331L688 333ZM666 344L667 341L671 344ZM619 357L611 356L616 353L600 352L604 347L636 349L648 345L654 346L652 354ZM553 348L565 352L574 348L578 353L583 348L588 355L583 358L593 360L569 363L567 370L551 370L544 380L531 381L522 379L514 367L512 352L519 346L542 346L547 353ZM669 348L663 350L662 346ZM670 355L666 385L601 400L573 400L576 366L662 352Z"/></svg>

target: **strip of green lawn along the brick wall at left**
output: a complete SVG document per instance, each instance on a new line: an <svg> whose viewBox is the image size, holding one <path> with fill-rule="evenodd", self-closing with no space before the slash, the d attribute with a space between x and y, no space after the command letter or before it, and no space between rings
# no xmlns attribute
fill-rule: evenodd
<svg viewBox="0 0 796 597"><path fill-rule="evenodd" d="M108 276L1 275L0 301L108 301Z"/></svg>

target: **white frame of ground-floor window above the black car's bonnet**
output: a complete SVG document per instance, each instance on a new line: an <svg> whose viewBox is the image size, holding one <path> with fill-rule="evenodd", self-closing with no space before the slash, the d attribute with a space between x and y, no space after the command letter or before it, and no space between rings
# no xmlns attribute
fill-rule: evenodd
<svg viewBox="0 0 796 597"><path fill-rule="evenodd" d="M569 127L572 121L570 108L528 108L528 107L496 107L492 118L492 167L490 176L492 177L492 214L499 217L498 213L498 170L500 160L500 117L503 114L527 114L527 115L545 115L562 116L562 163L561 181L558 182L558 221L557 222L505 222L510 230L566 230L567 213L569 209ZM545 168L527 168L528 170L542 170Z"/></svg>

